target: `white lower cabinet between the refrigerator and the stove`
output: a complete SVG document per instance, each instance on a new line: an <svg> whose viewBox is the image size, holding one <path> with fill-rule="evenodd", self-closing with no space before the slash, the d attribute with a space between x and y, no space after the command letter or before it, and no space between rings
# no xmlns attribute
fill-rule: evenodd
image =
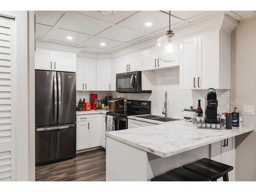
<svg viewBox="0 0 256 192"><path fill-rule="evenodd" d="M105 115L77 115L76 151L97 146L105 148Z"/></svg>

